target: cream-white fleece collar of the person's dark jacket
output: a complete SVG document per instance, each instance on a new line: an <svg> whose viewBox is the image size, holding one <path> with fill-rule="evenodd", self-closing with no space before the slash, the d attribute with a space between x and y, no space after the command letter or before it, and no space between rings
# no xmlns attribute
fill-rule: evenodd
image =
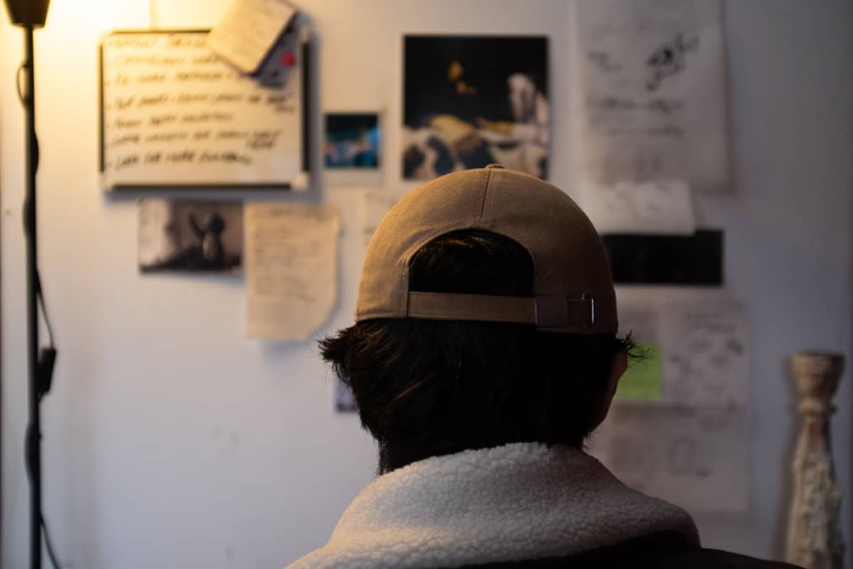
<svg viewBox="0 0 853 569"><path fill-rule="evenodd" d="M581 450L508 444L380 476L293 569L456 567L565 557L658 531L699 544L693 520L630 490Z"/></svg>

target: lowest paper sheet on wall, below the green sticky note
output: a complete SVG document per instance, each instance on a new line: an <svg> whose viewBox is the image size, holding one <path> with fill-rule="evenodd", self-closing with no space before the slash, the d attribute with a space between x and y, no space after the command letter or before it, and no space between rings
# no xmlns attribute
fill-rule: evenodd
<svg viewBox="0 0 853 569"><path fill-rule="evenodd" d="M690 512L749 506L746 408L614 404L591 451L637 491Z"/></svg>

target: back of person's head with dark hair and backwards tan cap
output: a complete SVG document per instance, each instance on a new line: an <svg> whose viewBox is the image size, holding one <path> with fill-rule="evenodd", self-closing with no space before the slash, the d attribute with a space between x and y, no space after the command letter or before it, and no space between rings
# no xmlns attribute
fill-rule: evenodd
<svg viewBox="0 0 853 569"><path fill-rule="evenodd" d="M514 442L580 446L612 397L614 357L630 340L615 334L612 281L595 229L553 186L492 174L444 177L471 195L472 207L465 196L449 196L441 179L395 207L368 247L357 323L321 342L379 443L380 473ZM513 183L540 202L495 206ZM438 222L422 211L431 199L450 212ZM507 212L489 213L501 208ZM537 220L554 208L565 211ZM465 219L466 209L474 218ZM560 237L574 242L548 242ZM384 280L375 278L383 272Z"/></svg>

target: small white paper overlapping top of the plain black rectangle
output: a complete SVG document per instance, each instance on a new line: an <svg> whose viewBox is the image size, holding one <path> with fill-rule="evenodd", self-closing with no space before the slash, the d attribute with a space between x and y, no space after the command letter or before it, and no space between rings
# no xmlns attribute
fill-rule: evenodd
<svg viewBox="0 0 853 569"><path fill-rule="evenodd" d="M688 184L678 180L587 185L583 209L601 234L693 235Z"/></svg>

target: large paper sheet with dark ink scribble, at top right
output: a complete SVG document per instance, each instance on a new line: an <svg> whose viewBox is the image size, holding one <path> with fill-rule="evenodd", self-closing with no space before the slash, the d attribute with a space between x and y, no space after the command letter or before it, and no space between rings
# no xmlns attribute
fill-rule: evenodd
<svg viewBox="0 0 853 569"><path fill-rule="evenodd" d="M577 4L581 179L728 191L720 0Z"/></svg>

